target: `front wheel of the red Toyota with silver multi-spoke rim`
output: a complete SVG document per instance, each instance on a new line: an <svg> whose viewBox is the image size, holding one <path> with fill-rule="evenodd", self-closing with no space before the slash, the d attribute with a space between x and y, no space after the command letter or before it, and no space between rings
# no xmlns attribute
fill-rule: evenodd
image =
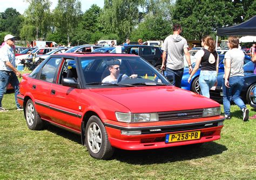
<svg viewBox="0 0 256 180"><path fill-rule="evenodd" d="M85 144L90 155L96 159L110 159L114 153L106 129L97 116L91 116L86 124Z"/></svg>

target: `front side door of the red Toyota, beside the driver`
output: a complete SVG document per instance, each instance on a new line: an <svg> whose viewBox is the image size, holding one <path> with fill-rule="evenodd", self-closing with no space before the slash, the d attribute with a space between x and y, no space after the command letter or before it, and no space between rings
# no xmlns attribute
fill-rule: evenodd
<svg viewBox="0 0 256 180"><path fill-rule="evenodd" d="M74 78L79 82L74 59L63 60L56 83L51 85L49 95L52 110L51 119L57 124L79 132L82 121L82 109L79 106L79 97L82 92L79 88L62 85L62 79L65 77Z"/></svg>

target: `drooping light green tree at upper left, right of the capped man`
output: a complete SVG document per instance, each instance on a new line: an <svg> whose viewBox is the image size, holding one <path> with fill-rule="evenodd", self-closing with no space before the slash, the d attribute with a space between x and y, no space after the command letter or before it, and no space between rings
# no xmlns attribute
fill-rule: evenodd
<svg viewBox="0 0 256 180"><path fill-rule="evenodd" d="M24 12L24 23L21 30L21 37L24 39L38 40L39 37L46 37L50 31L50 0L26 0L30 5Z"/></svg>

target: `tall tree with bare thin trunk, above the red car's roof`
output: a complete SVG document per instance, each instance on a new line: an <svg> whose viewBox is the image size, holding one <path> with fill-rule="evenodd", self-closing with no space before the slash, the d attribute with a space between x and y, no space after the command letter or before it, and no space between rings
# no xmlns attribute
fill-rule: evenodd
<svg viewBox="0 0 256 180"><path fill-rule="evenodd" d="M79 24L82 16L81 3L78 0L58 0L56 8L53 10L56 30L66 34L68 44L70 35Z"/></svg>

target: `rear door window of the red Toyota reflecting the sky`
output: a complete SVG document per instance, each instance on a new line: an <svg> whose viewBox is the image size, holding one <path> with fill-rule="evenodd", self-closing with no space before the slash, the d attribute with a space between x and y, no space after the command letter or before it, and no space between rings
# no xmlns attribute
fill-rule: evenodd
<svg viewBox="0 0 256 180"><path fill-rule="evenodd" d="M39 79L53 82L54 75L61 59L61 57L52 57L48 62L46 62L41 71Z"/></svg>

